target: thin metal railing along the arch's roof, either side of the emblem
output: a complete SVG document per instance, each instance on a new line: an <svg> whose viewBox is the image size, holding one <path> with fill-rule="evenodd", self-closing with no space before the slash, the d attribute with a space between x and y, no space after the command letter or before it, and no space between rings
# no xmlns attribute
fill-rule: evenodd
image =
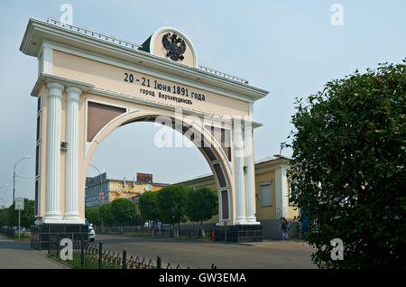
<svg viewBox="0 0 406 287"><path fill-rule="evenodd" d="M109 36L109 35L106 35L106 34L101 33L101 32L95 32L95 31L89 30L87 28L79 27L79 26L74 25L74 24L63 23L63 22L60 22L60 20L57 20L57 19L54 19L54 18L48 18L48 23L51 23L51 24L53 24L55 26L59 26L59 27L65 28L65 29L68 29L68 30L70 30L72 32L78 32L78 33L81 33L81 34L84 34L84 35L87 35L87 36L90 36L90 37L93 37L93 38L97 38L98 40L114 43L114 44L123 46L125 48L129 48L129 49L133 49L133 50L137 50L137 51L138 51L138 48L143 48L143 46L138 45L138 44L134 44L133 42L127 42L127 41L124 41L124 40L120 40L120 39L115 38L114 36ZM239 83L242 83L242 84L248 84L247 79L242 79L242 78L239 78L239 77L236 77L236 76L221 72L221 71L216 70L216 69L211 69L211 68L208 68L208 67L205 67L205 66L198 66L198 69L200 69L202 71L205 71L205 72L208 72L210 74L222 77L222 78L235 80L235 81L237 81Z"/></svg>

